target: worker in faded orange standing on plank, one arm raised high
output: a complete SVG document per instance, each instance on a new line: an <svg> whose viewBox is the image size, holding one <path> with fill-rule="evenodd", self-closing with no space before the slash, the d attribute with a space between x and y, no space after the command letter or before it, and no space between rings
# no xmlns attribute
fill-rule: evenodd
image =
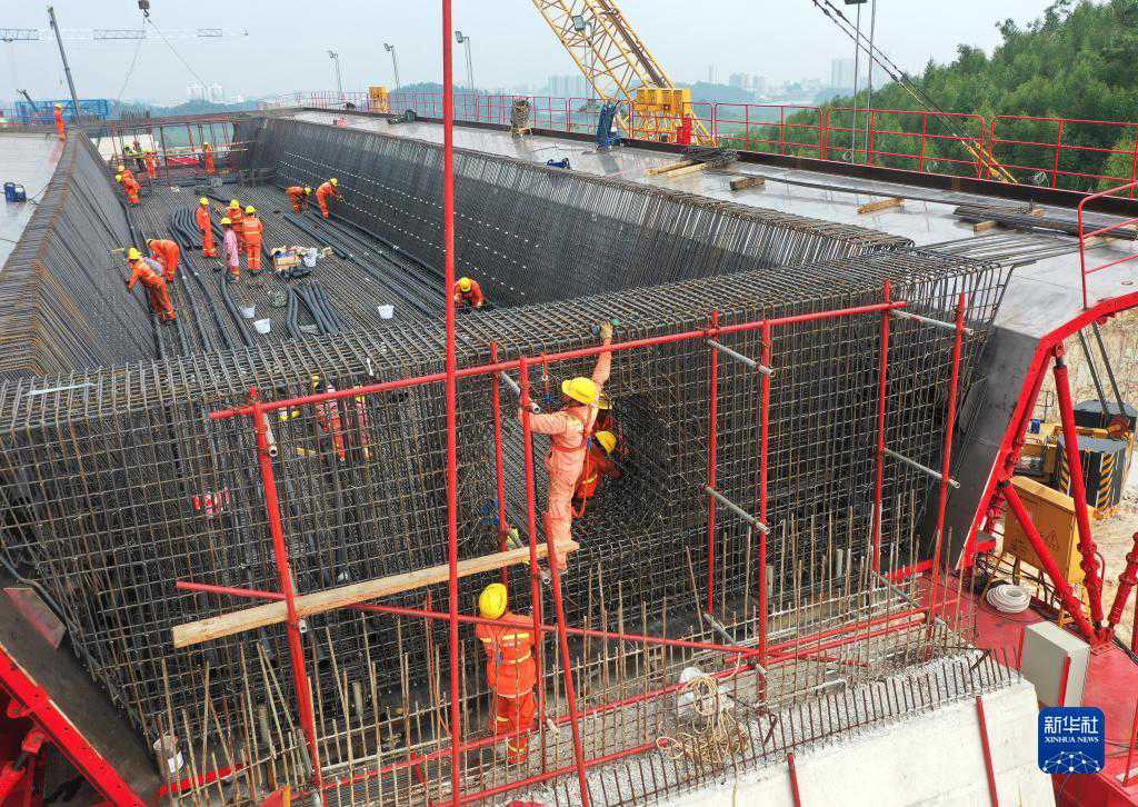
<svg viewBox="0 0 1138 807"><path fill-rule="evenodd" d="M612 324L604 322L600 330L602 344L611 345ZM561 382L564 406L560 412L529 415L533 431L550 436L550 453L545 456L545 469L550 474L545 535L554 545L572 537L572 495L596 423L597 403L611 372L612 352L603 351L596 359L592 378L570 378ZM523 417L519 406L518 418ZM551 562L566 568L566 559L555 547Z"/></svg>

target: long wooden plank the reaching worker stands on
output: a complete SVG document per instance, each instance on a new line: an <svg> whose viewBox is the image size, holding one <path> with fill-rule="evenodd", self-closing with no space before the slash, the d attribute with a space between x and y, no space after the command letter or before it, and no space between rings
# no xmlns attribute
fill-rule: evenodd
<svg viewBox="0 0 1138 807"><path fill-rule="evenodd" d="M567 540L558 542L558 551L562 555L576 552L577 542ZM545 543L537 544L537 558L541 560L547 553ZM493 571L506 566L519 566L529 562L529 546L510 550L509 552L495 552L469 560L459 561L459 577L469 577L483 571ZM378 577L373 580L353 583L337 588L328 588L312 594L300 594L296 598L296 614L298 617L307 617L314 614L323 614L337 608L354 606L358 602L366 602L381 596L398 594L413 588L444 583L451 577L450 566L431 566L418 571L407 571L402 575L389 575ZM212 639L232 636L246 631L254 631L266 625L279 625L288 618L287 607L283 601L273 601L264 606L246 608L232 614L223 614L217 617L198 619L183 625L175 625L172 634L175 648L188 648L191 644L208 642Z"/></svg>

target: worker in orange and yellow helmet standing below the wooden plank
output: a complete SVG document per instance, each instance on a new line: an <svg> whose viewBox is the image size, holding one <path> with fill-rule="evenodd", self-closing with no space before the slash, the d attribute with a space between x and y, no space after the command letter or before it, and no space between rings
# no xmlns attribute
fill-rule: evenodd
<svg viewBox="0 0 1138 807"><path fill-rule="evenodd" d="M478 612L493 625L479 623L475 635L486 650L486 678L494 692L495 736L506 739L505 758L523 763L529 756L529 733L534 727L534 620L511 614L505 586L490 583L478 595ZM512 736L512 735L517 736Z"/></svg>

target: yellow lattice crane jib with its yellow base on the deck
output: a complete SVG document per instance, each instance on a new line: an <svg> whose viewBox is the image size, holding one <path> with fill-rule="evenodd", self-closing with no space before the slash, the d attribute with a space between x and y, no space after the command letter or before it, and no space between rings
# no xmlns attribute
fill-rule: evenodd
<svg viewBox="0 0 1138 807"><path fill-rule="evenodd" d="M534 0L534 6L600 99L628 105L632 115L618 118L625 131L675 139L687 116L692 142L715 143L688 93L675 87L612 0Z"/></svg>

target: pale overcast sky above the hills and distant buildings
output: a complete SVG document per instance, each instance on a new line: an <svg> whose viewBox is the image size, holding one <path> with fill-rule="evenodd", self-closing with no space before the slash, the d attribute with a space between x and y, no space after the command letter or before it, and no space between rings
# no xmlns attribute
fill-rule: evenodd
<svg viewBox="0 0 1138 807"><path fill-rule="evenodd" d="M60 27L138 27L135 0L56 0ZM706 80L715 65L731 73L774 80L830 76L832 58L852 56L842 35L811 0L619 0L625 15L676 81ZM1039 16L1050 0L880 0L877 42L908 71L929 58L950 60L958 43L986 50L998 43L998 19ZM340 52L346 90L393 84L382 43L396 46L404 83L440 77L440 3L435 0L151 0L158 28L225 26L248 36L172 40L192 73L217 82L225 94L259 97L294 90L333 89L327 50ZM847 10L852 9L849 7ZM866 9L869 7L866 6ZM479 87L544 83L575 72L530 0L454 0L455 27L471 36ZM0 27L47 28L34 0L0 3ZM865 14L868 30L868 14ZM5 42L0 97L26 89L33 98L66 94L55 42ZM160 40L69 42L68 55L82 97L185 100L196 83L190 67ZM456 53L456 72L464 71ZM462 75L462 73L459 73ZM125 82L125 90L123 89Z"/></svg>

